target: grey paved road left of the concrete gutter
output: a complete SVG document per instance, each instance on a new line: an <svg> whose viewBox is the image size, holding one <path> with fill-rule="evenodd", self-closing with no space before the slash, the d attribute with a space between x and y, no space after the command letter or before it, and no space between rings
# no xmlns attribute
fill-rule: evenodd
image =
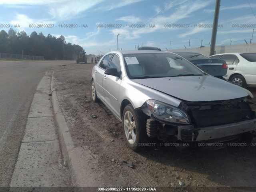
<svg viewBox="0 0 256 192"><path fill-rule="evenodd" d="M0 186L10 186L36 88L66 61L0 61Z"/></svg>

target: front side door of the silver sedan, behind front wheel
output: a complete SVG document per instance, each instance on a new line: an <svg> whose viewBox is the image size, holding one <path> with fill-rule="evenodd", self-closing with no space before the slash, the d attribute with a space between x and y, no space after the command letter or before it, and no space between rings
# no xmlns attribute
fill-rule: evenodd
<svg viewBox="0 0 256 192"><path fill-rule="evenodd" d="M122 74L118 55L114 54L108 68L116 68L117 71ZM118 78L112 75L103 75L104 102L118 118L120 118L119 88L121 82L122 76Z"/></svg>

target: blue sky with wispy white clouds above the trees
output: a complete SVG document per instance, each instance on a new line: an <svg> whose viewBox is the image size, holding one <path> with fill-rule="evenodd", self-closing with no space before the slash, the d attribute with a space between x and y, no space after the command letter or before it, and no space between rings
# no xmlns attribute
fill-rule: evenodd
<svg viewBox="0 0 256 192"><path fill-rule="evenodd" d="M197 48L210 46L215 4L215 0L0 0L0 30L63 35L66 43L95 55L138 46ZM218 24L216 46L251 39L256 43L256 1L221 0Z"/></svg>

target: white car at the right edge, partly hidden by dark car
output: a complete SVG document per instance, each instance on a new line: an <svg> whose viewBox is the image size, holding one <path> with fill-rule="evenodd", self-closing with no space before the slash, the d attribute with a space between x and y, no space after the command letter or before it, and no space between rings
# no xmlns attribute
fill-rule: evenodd
<svg viewBox="0 0 256 192"><path fill-rule="evenodd" d="M256 84L256 53L223 53L210 58L226 61L228 72L224 78L227 81L244 88Z"/></svg>

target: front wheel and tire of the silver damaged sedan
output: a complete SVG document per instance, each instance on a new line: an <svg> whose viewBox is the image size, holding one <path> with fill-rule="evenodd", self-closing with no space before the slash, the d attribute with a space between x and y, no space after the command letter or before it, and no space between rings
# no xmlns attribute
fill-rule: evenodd
<svg viewBox="0 0 256 192"><path fill-rule="evenodd" d="M132 104L124 108L122 116L124 139L134 151L143 150L147 146L149 138L146 133L146 122L146 115L140 110L134 110Z"/></svg>

